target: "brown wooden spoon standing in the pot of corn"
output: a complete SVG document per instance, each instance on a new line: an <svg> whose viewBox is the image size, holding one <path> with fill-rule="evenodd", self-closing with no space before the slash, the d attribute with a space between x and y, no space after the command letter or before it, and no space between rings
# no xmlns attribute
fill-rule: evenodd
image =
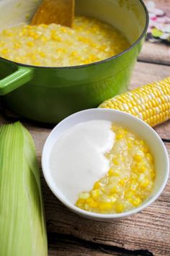
<svg viewBox="0 0 170 256"><path fill-rule="evenodd" d="M30 25L57 23L67 27L73 24L75 0L44 0Z"/></svg>

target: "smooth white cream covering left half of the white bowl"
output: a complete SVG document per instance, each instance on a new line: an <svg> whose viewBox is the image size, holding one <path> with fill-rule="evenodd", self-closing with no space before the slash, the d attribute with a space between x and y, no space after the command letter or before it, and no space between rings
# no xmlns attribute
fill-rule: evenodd
<svg viewBox="0 0 170 256"><path fill-rule="evenodd" d="M73 204L82 191L107 174L109 160L104 156L114 145L112 123L92 120L75 124L55 142L49 168L56 186Z"/></svg>

